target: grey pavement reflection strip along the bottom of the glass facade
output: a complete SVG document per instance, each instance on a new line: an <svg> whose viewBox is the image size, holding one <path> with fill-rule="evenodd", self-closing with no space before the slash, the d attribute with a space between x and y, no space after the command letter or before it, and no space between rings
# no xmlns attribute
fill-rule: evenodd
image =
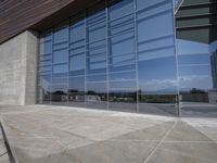
<svg viewBox="0 0 217 163"><path fill-rule="evenodd" d="M75 101L52 102L54 105L68 105L99 110L112 110L120 112L137 112L137 104L132 102L106 102L106 101ZM175 104L140 103L139 113L165 116L178 116L178 106ZM180 116L183 117L217 117L217 105L200 102L181 103Z"/></svg>

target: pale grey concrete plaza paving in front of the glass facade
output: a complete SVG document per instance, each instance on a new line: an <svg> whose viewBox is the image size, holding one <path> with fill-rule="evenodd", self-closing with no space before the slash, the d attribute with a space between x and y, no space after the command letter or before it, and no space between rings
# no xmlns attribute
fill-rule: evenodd
<svg viewBox="0 0 217 163"><path fill-rule="evenodd" d="M20 163L216 163L217 120L0 106Z"/></svg>

